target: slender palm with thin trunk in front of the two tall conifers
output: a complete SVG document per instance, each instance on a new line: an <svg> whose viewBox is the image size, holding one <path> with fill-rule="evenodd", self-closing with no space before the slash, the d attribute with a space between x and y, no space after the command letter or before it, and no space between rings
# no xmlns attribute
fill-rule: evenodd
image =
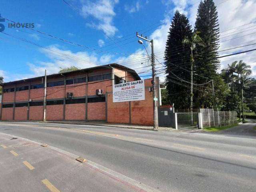
<svg viewBox="0 0 256 192"><path fill-rule="evenodd" d="M191 88L190 88L190 112L193 112L193 66L194 66L194 56L193 56L193 51L196 48L196 45L200 45L205 47L205 44L199 36L200 32L194 32L191 38L188 38L187 36L182 40L183 44L188 44L190 46L190 81L191 81Z"/></svg>

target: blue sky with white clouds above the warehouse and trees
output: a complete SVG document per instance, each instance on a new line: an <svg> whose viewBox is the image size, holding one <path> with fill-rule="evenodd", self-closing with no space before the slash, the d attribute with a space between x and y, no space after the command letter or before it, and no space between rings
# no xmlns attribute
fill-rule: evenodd
<svg viewBox="0 0 256 192"><path fill-rule="evenodd" d="M254 49L256 0L214 0L220 24L220 56ZM136 31L154 40L156 70L164 81L164 49L176 10L194 27L198 0L2 0L0 14L8 19L0 32L0 76L5 82L57 73L61 68L88 68L116 62L150 77L150 60L138 44ZM34 24L22 28L10 24ZM252 23L254 22L254 23ZM148 53L151 47L144 42ZM252 67L256 51L221 58L225 68L236 60Z"/></svg>

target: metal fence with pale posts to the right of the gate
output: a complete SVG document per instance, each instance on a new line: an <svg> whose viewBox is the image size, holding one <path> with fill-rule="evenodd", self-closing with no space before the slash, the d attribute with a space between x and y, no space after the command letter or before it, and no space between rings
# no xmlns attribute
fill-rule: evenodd
<svg viewBox="0 0 256 192"><path fill-rule="evenodd" d="M200 109L203 127L227 126L237 123L235 111L214 111Z"/></svg>

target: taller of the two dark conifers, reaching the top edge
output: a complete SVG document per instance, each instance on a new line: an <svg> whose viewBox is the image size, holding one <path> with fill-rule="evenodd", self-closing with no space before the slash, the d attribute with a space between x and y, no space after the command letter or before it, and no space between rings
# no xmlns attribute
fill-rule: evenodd
<svg viewBox="0 0 256 192"><path fill-rule="evenodd" d="M218 78L217 69L220 67L220 61L218 60L220 36L218 12L213 0L200 2L194 30L200 32L200 37L205 45L196 46L195 48L194 70L198 75L195 76L194 82L203 84L209 79L215 80ZM197 101L195 100L194 105L196 107L212 106L211 103L207 102L209 97L212 97L212 93L208 95L202 91L197 91L194 96Z"/></svg>

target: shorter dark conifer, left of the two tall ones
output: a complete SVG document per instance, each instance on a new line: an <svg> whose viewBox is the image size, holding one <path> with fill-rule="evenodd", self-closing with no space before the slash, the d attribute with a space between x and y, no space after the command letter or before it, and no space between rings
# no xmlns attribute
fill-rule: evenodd
<svg viewBox="0 0 256 192"><path fill-rule="evenodd" d="M184 45L182 40L185 37L191 38L191 28L188 18L177 10L172 19L164 52L168 98L177 108L189 107L190 91L187 86L177 83L176 76L182 79L190 78L190 74L186 71L190 70L190 46ZM183 69L178 66L182 66Z"/></svg>

